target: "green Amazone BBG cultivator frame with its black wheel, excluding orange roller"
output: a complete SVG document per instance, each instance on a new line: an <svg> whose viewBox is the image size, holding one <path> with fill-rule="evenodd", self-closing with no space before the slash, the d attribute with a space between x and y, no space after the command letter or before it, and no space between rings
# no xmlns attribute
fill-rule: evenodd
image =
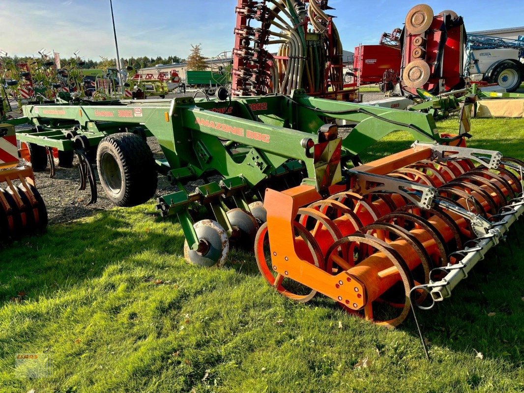
<svg viewBox="0 0 524 393"><path fill-rule="evenodd" d="M334 119L351 124L346 126L349 135L336 139L342 144L344 163L358 163L359 152L397 130L410 132L413 139L440 141L430 115L318 99L300 90L290 97L229 101L177 98L93 106L28 105L24 114L34 127L17 135L34 169L47 167L47 155L53 174L56 163L70 166L76 154L81 188L90 184L91 202L97 195L95 163L102 188L119 206L144 203L156 191L157 172L167 176L179 191L159 198L158 209L163 216L178 215L192 250L202 247L189 214L194 202L208 206L225 233L234 236L231 221L237 220L232 215L245 221L247 212L263 220L265 187L289 188L303 179L318 189L330 185L337 175L329 171L329 162L339 152L324 130L333 128ZM153 159L145 141L151 136L158 140L165 159ZM220 180L188 192L189 182L213 174ZM234 213L223 208L224 197L237 206ZM255 226L245 226L241 232L254 237Z"/></svg>

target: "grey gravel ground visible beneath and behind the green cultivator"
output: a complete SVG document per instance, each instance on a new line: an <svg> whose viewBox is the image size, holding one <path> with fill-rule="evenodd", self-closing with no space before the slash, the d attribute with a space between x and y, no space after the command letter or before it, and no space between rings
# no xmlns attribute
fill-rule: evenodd
<svg viewBox="0 0 524 393"><path fill-rule="evenodd" d="M186 95L192 96L193 94L194 93L187 93ZM170 99L175 96L183 96L183 94L169 94L166 98ZM383 93L364 93L363 101L374 101L381 97L384 97ZM16 112L10 114L20 116L20 114ZM24 126L17 127L17 129L23 128ZM151 147L155 158L163 158L162 151L155 138L148 138L148 145ZM68 222L113 207L113 204L107 199L104 190L100 186L100 182L98 182L96 169L95 176L98 185L98 200L92 205L87 205L90 200L89 184L86 190L78 190L80 174L76 158L73 162L73 168L65 169L57 167L56 174L52 179L49 178L49 170L35 173L38 191L42 195L43 200L46 201L50 224ZM158 188L155 198L174 190L176 190L176 188L167 181L166 177L158 177Z"/></svg>

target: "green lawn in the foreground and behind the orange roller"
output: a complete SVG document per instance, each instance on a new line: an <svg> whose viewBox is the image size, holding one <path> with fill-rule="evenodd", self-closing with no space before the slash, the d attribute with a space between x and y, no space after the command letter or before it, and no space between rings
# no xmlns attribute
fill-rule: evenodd
<svg viewBox="0 0 524 393"><path fill-rule="evenodd" d="M474 119L473 134L470 146L524 158L524 119ZM408 140L392 135L366 158ZM411 318L388 330L322 296L293 303L252 254L222 269L185 264L180 225L152 203L54 225L0 251L0 391L523 391L524 253L512 232L514 254L500 245L421 314L427 362ZM16 353L49 354L52 377L16 379Z"/></svg>

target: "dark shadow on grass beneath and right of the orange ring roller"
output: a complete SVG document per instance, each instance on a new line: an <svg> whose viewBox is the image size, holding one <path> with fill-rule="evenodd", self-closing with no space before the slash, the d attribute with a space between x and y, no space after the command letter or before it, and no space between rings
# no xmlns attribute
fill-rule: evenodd
<svg viewBox="0 0 524 393"><path fill-rule="evenodd" d="M522 231L518 222L510 229L506 242L490 250L485 259L470 272L468 278L453 290L452 297L436 303L432 311L418 311L423 334L430 351L447 348L454 352L481 352L485 358L498 358L514 366L524 362L524 245L517 242ZM238 274L260 275L253 254L233 249L227 266ZM260 278L263 285L269 285ZM318 294L301 307L340 311L333 300ZM376 326L376 329L386 329ZM410 312L398 326L419 341L419 334ZM420 344L420 353L422 354Z"/></svg>

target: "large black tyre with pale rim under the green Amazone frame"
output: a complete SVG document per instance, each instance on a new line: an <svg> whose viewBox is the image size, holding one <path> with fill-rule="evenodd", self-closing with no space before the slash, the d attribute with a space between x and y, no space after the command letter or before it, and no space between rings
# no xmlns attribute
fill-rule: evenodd
<svg viewBox="0 0 524 393"><path fill-rule="evenodd" d="M96 166L102 188L117 206L140 205L155 195L155 159L138 135L117 133L102 139L96 151Z"/></svg>

